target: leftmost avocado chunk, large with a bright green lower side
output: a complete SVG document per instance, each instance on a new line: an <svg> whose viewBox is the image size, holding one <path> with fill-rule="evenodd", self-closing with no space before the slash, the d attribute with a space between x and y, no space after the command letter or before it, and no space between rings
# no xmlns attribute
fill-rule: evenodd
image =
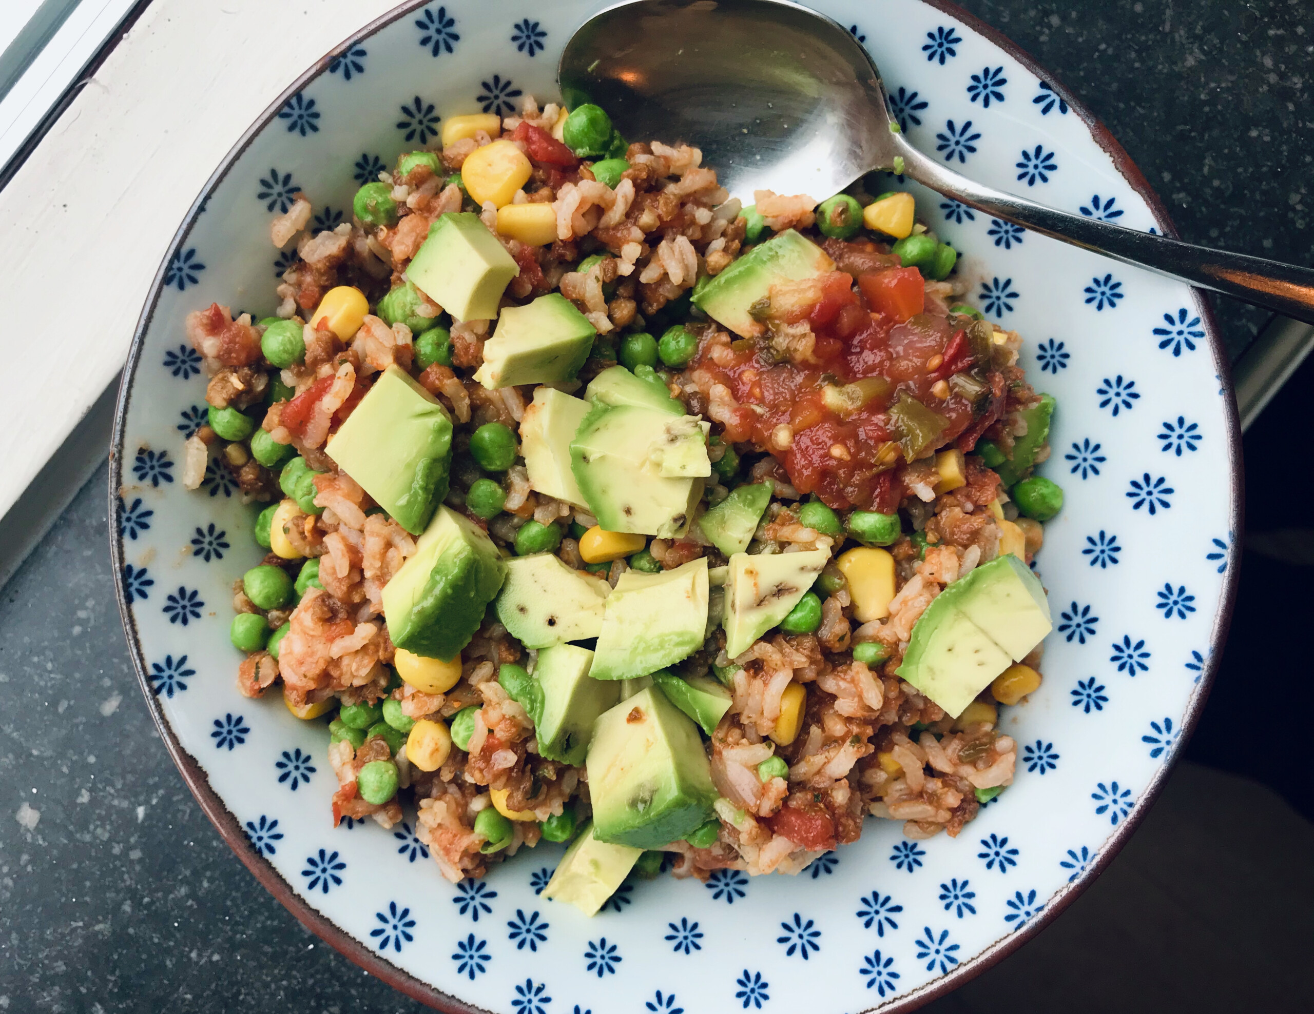
<svg viewBox="0 0 1314 1014"><path fill-rule="evenodd" d="M411 535L447 495L452 420L410 374L389 366L325 448Z"/></svg>

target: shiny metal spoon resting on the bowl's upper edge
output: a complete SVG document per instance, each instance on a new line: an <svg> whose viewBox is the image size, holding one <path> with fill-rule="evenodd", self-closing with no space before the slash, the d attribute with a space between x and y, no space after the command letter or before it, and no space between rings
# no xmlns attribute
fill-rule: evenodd
<svg viewBox="0 0 1314 1014"><path fill-rule="evenodd" d="M732 196L838 193L899 172L1064 243L1314 323L1314 271L1058 211L972 183L899 133L871 56L841 25L783 0L632 0L591 17L557 70L627 138L696 144Z"/></svg>

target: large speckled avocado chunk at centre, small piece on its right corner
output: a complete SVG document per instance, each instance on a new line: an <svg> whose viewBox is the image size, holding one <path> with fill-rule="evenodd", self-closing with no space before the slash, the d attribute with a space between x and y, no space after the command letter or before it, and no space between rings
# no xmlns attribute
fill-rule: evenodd
<svg viewBox="0 0 1314 1014"><path fill-rule="evenodd" d="M666 478L652 461L670 422L654 408L599 402L579 424L570 441L570 469L606 531L661 539L687 531L703 479Z"/></svg>

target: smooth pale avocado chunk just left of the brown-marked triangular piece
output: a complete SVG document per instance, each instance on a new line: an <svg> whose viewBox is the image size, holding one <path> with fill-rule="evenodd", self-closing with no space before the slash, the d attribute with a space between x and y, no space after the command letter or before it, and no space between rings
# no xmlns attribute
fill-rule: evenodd
<svg viewBox="0 0 1314 1014"><path fill-rule="evenodd" d="M703 646L707 591L706 557L661 574L627 570L607 598L590 675L631 679L689 658Z"/></svg>

